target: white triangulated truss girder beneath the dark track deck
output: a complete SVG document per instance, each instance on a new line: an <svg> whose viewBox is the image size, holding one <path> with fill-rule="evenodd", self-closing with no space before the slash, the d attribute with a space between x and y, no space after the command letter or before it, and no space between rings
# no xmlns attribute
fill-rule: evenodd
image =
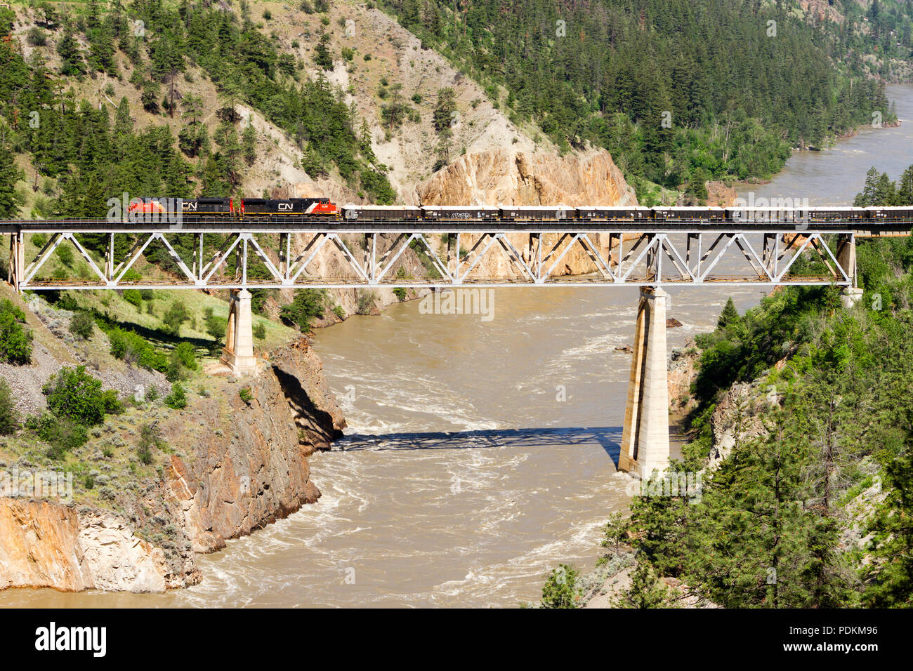
<svg viewBox="0 0 913 671"><path fill-rule="evenodd" d="M225 235L222 245L214 253L206 254L203 236L210 234L209 230L121 229L103 232L108 236L103 256L93 256L80 244L80 233L78 230L50 233L46 244L27 263L25 236L29 234L14 234L11 281L20 290L855 284L855 254L847 251L854 250L855 236L849 230L792 233L711 226L680 232L621 229L522 232L498 230L494 226L489 230L435 233L414 229L366 233L342 233L329 228L305 233L231 230L221 232ZM115 255L117 236L131 236L130 251L122 257ZM190 246L194 250L192 257L178 253L173 244L176 236L194 236L194 244ZM299 236L299 244L293 245L293 236ZM432 236L438 237L437 245L433 244ZM830 238L835 238L835 252L828 244ZM354 246L352 239L360 241L361 248ZM135 279L129 271L155 244L163 246L177 272L167 278ZM89 278L39 278L39 271L61 245L72 246L86 262ZM416 254L425 256L425 277L394 273L410 246ZM579 247L592 264L594 272L590 275L560 274L562 260L574 247ZM326 264L315 263L326 249L337 257L341 268L332 276ZM824 274L792 276L793 264L806 251L813 252L822 262L826 268ZM235 257L233 268L228 263L232 256ZM509 276L482 274L483 262L493 256L506 261ZM267 278L250 277L248 269L255 259L266 268ZM733 261L744 265L741 275L726 275L721 270Z"/></svg>

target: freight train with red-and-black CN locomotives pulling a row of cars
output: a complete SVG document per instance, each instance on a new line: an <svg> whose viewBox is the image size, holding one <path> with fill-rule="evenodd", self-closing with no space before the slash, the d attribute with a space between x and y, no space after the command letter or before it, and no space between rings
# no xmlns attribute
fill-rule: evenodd
<svg viewBox="0 0 913 671"><path fill-rule="evenodd" d="M578 206L566 205L343 205L329 198L139 198L131 201L131 216L235 217L239 219L312 218L348 221L421 222L690 222L801 224L828 221L913 221L913 206L898 207L715 207L715 206Z"/></svg>

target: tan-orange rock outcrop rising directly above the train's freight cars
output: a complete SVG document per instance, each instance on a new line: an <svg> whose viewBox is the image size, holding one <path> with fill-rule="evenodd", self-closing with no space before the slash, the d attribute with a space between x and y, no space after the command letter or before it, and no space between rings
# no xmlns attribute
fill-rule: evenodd
<svg viewBox="0 0 913 671"><path fill-rule="evenodd" d="M634 189L605 151L558 157L493 149L469 153L417 188L423 205L628 205Z"/></svg>

